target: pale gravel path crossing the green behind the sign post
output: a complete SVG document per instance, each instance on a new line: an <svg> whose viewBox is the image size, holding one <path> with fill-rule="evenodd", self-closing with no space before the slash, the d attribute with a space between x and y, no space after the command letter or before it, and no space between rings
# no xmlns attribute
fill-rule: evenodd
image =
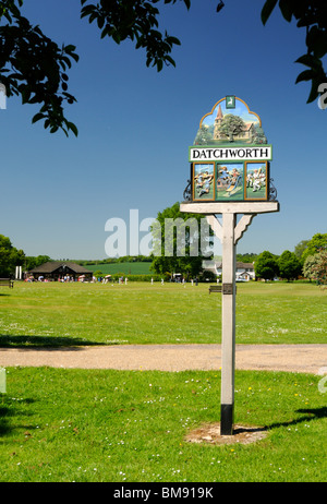
<svg viewBox="0 0 327 504"><path fill-rule="evenodd" d="M218 370L220 345L117 345L2 348L0 367L117 370ZM237 345L237 369L327 373L327 345Z"/></svg>

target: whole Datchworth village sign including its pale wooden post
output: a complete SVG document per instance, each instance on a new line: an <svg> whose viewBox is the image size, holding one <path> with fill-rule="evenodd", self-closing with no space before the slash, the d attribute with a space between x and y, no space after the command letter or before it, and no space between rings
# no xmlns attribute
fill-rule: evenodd
<svg viewBox="0 0 327 504"><path fill-rule="evenodd" d="M234 96L219 100L204 116L194 143L191 181L180 211L205 215L222 244L220 434L232 435L237 243L257 214L279 212L269 178L272 147L259 117ZM222 216L221 224L217 215Z"/></svg>

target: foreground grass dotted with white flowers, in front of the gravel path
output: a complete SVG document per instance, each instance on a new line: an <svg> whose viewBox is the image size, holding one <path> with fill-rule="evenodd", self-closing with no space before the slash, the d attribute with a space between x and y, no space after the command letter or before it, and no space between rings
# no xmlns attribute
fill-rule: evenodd
<svg viewBox="0 0 327 504"><path fill-rule="evenodd" d="M0 399L0 481L326 481L318 376L238 371L235 422L250 445L197 445L219 421L219 372L9 368Z"/></svg>

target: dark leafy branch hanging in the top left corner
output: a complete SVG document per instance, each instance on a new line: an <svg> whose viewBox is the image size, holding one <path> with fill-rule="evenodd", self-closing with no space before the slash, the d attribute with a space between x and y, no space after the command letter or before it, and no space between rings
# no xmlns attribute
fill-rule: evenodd
<svg viewBox="0 0 327 504"><path fill-rule="evenodd" d="M19 7L23 1L19 0ZM20 95L23 104L40 104L33 122L44 119L51 133L61 129L66 135L77 128L63 115L64 101L73 104L74 96L68 93L69 76L65 73L72 61L78 61L75 46L61 48L44 35L39 26L32 26L21 15L14 0L0 2L0 81L7 96Z"/></svg>

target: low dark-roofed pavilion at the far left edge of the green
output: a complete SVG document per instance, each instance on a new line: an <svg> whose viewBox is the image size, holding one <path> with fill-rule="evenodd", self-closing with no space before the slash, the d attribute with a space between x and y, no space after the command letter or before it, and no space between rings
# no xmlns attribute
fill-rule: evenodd
<svg viewBox="0 0 327 504"><path fill-rule="evenodd" d="M83 275L86 281L93 278L93 272L70 261L49 261L31 269L29 274L33 275L35 280L39 277L44 277L45 280L58 280L68 275L74 280L77 280Z"/></svg>

